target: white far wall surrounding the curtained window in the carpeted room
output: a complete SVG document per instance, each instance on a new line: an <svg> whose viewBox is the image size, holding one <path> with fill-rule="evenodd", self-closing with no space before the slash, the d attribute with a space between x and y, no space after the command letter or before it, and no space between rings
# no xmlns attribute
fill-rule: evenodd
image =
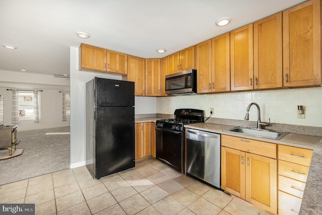
<svg viewBox="0 0 322 215"><path fill-rule="evenodd" d="M69 117L67 117L67 121L61 119L61 93L59 93L62 90L69 91L69 81L53 76L1 70L0 76L0 95L4 97L5 125L12 124L12 91L7 91L7 89L20 89L42 90L43 92L41 92L41 119L39 119L39 123L35 123L33 120L20 120L18 130L69 126Z"/></svg>

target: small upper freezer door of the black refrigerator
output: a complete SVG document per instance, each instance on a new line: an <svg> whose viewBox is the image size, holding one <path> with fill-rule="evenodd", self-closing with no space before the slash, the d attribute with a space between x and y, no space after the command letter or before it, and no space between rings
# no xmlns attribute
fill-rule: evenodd
<svg viewBox="0 0 322 215"><path fill-rule="evenodd" d="M95 77L96 106L134 106L134 82Z"/></svg>

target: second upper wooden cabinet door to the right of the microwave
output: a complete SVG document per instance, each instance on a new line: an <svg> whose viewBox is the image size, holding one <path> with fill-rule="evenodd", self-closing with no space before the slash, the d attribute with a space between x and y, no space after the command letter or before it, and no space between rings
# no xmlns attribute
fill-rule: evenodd
<svg viewBox="0 0 322 215"><path fill-rule="evenodd" d="M230 90L229 32L212 39L212 92Z"/></svg>

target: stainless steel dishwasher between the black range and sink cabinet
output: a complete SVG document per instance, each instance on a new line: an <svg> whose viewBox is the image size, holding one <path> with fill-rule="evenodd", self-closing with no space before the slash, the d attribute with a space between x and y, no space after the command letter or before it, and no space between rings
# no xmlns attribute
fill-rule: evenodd
<svg viewBox="0 0 322 215"><path fill-rule="evenodd" d="M220 188L220 134L187 128L186 173Z"/></svg>

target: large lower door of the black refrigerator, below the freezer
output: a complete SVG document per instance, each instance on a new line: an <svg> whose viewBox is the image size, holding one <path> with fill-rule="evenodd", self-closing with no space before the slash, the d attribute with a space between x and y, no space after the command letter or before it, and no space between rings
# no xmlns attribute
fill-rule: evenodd
<svg viewBox="0 0 322 215"><path fill-rule="evenodd" d="M96 107L96 177L135 166L134 107Z"/></svg>

